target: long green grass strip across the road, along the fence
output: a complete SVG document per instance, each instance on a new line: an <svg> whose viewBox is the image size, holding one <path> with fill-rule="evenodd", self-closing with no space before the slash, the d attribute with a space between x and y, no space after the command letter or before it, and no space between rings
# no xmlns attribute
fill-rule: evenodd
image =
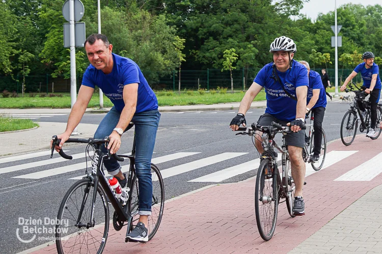
<svg viewBox="0 0 382 254"><path fill-rule="evenodd" d="M197 105L197 104L216 104L240 102L244 92L231 93L208 93L200 94L198 91L178 93L172 91L156 92L159 106L174 105ZM255 101L265 100L265 92L261 91ZM103 97L103 106L112 107L112 102ZM99 107L99 94L94 94L89 103L89 108ZM70 108L70 95L64 94L64 97L24 97L24 98L0 98L0 108Z"/></svg>

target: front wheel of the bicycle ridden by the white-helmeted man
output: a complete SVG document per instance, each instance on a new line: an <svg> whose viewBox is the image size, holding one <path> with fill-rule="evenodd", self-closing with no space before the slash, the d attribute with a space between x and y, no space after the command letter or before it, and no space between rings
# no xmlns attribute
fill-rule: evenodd
<svg viewBox="0 0 382 254"><path fill-rule="evenodd" d="M273 170L270 160L265 158L260 163L256 177L256 223L260 236L265 241L270 240L275 232L279 205L279 184L278 179L274 179L272 176ZM276 197L274 197L274 188L277 188Z"/></svg>

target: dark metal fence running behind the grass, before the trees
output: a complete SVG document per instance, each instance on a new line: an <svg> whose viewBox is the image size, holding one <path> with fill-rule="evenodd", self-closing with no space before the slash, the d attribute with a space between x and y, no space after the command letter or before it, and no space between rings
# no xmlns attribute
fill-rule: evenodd
<svg viewBox="0 0 382 254"><path fill-rule="evenodd" d="M257 69L236 69L232 70L233 87L235 90L246 90L251 86L254 78L259 72ZM314 69L321 74L321 69ZM346 77L352 72L352 69L338 70L338 84L342 84ZM328 75L331 83L335 83L335 70L328 69ZM145 73L143 73L145 75ZM150 73L146 73L150 75ZM0 76L0 92L8 90L10 92L21 92L22 75L15 77ZM82 75L77 75L77 90L81 84ZM362 82L361 75L357 75L355 82ZM163 75L156 82L150 82L150 86L158 90L174 90L179 87L179 72L173 71L172 74ZM211 90L217 87L227 87L230 90L231 79L229 71L221 71L217 69L207 69L203 71L181 70L180 72L180 90L197 90L199 88ZM25 92L70 92L70 79L63 77L53 78L51 75L28 75L25 76Z"/></svg>

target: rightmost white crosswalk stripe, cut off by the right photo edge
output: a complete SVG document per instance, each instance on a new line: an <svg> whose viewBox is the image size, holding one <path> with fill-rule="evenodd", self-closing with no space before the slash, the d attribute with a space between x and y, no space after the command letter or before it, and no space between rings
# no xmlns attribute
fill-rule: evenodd
<svg viewBox="0 0 382 254"><path fill-rule="evenodd" d="M360 166L346 172L335 181L371 181L382 173L382 152L361 164Z"/></svg>

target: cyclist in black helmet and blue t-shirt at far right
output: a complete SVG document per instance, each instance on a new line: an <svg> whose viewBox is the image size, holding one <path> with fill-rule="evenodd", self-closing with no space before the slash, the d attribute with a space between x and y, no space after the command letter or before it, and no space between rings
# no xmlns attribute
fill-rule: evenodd
<svg viewBox="0 0 382 254"><path fill-rule="evenodd" d="M369 102L371 106L371 128L366 134L367 137L373 137L375 132L375 124L377 122L377 106L379 102L379 96L380 96L380 88L381 88L381 82L379 78L379 68L374 63L374 54L372 52L365 52L362 55L364 62L360 63L356 69L350 75L346 78L345 82L341 86L341 91L344 91L346 88L346 85L357 76L357 74L360 72L362 75L362 79L364 81L363 88L366 93L370 94ZM357 101L358 106L360 107L360 110L363 111L362 115L365 118L366 116L366 110L361 101Z"/></svg>

